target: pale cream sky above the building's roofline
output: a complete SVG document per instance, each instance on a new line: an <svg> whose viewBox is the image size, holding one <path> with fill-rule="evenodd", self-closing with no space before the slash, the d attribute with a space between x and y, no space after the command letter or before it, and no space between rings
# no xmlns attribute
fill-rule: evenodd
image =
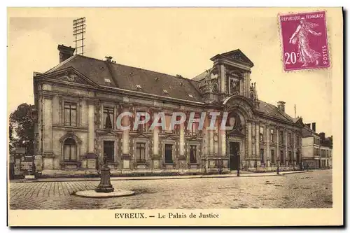
<svg viewBox="0 0 350 233"><path fill-rule="evenodd" d="M34 104L33 72L58 64L57 45L74 46L72 21L85 16L86 56L112 56L119 64L185 78L211 68L214 55L239 48L255 64L251 80L260 100L285 101L292 117L296 105L304 123L316 122L317 132L332 134L332 68L283 71L276 10L90 8L59 13L9 18L8 113L19 104Z"/></svg>

